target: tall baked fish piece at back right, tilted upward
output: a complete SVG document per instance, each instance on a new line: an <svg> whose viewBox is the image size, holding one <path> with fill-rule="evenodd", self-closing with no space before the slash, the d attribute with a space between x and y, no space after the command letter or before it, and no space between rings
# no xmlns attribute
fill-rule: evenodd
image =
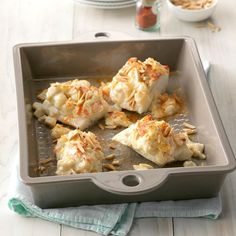
<svg viewBox="0 0 236 236"><path fill-rule="evenodd" d="M142 114L148 111L156 93L165 92L168 79L168 66L153 58L141 62L133 57L113 77L112 82L103 87L103 92L109 91L110 99L121 108Z"/></svg>

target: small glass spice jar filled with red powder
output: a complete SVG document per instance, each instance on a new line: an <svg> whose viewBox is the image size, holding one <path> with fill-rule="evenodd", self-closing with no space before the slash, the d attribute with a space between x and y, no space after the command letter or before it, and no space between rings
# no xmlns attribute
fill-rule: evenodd
<svg viewBox="0 0 236 236"><path fill-rule="evenodd" d="M160 0L137 0L136 27L145 31L160 28Z"/></svg>

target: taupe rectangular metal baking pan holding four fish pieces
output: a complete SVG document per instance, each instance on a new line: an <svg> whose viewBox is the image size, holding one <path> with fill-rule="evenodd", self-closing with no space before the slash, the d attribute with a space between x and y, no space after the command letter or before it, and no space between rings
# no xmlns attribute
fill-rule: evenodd
<svg viewBox="0 0 236 236"><path fill-rule="evenodd" d="M114 76L130 57L153 57L178 71L170 78L168 90L181 87L184 91L189 115L178 119L187 119L198 128L197 138L205 144L205 166L131 170L127 158L138 162L142 157L128 148L124 152L118 148L127 160L120 171L56 176L56 161L43 175L35 171L41 160L53 156L48 128L32 116L31 105L38 92L52 81L75 77L96 84ZM14 65L20 178L42 208L213 197L235 169L234 155L191 38L21 44L14 47Z"/></svg>

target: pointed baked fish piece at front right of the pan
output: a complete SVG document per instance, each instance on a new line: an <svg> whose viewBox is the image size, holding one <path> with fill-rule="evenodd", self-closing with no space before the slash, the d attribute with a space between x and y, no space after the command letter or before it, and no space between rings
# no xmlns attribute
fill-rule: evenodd
<svg viewBox="0 0 236 236"><path fill-rule="evenodd" d="M173 161L191 160L192 152L186 145L184 133L174 133L165 121L147 115L113 137L131 147L146 159L164 166Z"/></svg>

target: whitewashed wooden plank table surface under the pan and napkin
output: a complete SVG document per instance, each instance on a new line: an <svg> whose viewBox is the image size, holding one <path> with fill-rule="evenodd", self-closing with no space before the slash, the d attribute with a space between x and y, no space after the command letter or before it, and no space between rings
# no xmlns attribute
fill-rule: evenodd
<svg viewBox="0 0 236 236"><path fill-rule="evenodd" d="M100 10L82 7L72 0L1 0L0 7L0 235L97 235L46 222L23 218L7 208L7 189L12 163L17 158L18 131L12 47L18 43L79 40L88 32L115 31L134 38L159 35L188 35L198 45L202 58L211 62L210 87L233 151L236 151L236 3L220 1L212 21L222 30L178 21L162 9L161 30L145 33L134 26L134 8ZM117 34L115 34L117 35ZM119 34L118 34L119 35ZM117 36L119 37L119 36ZM223 213L218 220L140 219L130 236L138 235L236 235L236 174L225 181L222 191Z"/></svg>

